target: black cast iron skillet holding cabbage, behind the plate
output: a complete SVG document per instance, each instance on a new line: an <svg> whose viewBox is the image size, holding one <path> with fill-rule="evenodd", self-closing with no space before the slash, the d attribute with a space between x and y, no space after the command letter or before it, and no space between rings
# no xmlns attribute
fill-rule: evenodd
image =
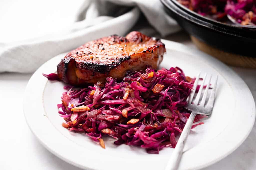
<svg viewBox="0 0 256 170"><path fill-rule="evenodd" d="M190 35L223 51L256 58L256 28L231 25L197 14L176 0L161 0L168 15Z"/></svg>

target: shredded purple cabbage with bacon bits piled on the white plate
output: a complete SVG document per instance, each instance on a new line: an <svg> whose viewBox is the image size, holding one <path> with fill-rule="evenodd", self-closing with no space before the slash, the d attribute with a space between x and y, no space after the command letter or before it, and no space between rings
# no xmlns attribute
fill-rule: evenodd
<svg viewBox="0 0 256 170"><path fill-rule="evenodd" d="M62 126L85 132L104 148L103 136L116 139L115 145L145 148L159 153L175 148L176 139L190 115L185 109L195 79L176 67L127 73L121 82L108 77L104 87L95 84L76 89L65 86L59 115ZM205 116L197 115L192 127Z"/></svg>

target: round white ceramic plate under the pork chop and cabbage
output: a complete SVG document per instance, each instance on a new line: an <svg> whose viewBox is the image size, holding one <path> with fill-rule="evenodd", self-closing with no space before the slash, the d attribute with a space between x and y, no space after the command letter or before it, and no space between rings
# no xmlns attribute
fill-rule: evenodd
<svg viewBox="0 0 256 170"><path fill-rule="evenodd" d="M186 75L199 71L218 75L217 97L213 113L205 124L191 130L179 169L209 166L238 148L249 135L255 120L252 94L243 80L229 67L196 49L163 40L167 53L161 67L178 66ZM33 134L62 160L84 169L164 169L172 148L159 154L121 145L108 138L102 149L86 135L69 132L61 126L56 104L64 91L62 82L50 82L42 73L56 72L65 54L43 64L28 82L24 97L24 115Z"/></svg>

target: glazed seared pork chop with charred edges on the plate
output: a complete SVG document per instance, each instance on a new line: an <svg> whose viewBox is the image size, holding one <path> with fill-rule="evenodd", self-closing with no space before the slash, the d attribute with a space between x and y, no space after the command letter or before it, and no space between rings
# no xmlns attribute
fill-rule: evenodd
<svg viewBox="0 0 256 170"><path fill-rule="evenodd" d="M106 77L122 79L127 70L157 69L165 46L140 32L121 37L111 35L88 42L68 53L58 64L59 79L71 85L106 82Z"/></svg>

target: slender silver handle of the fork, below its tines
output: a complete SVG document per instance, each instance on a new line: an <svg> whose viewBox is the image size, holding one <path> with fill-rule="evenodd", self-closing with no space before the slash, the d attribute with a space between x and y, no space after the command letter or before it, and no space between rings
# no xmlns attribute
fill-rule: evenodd
<svg viewBox="0 0 256 170"><path fill-rule="evenodd" d="M178 169L179 163L181 160L181 156L183 154L183 148L185 146L185 142L187 140L191 126L192 126L197 114L198 114L197 112L194 112L194 111L191 112L165 170L177 170Z"/></svg>

